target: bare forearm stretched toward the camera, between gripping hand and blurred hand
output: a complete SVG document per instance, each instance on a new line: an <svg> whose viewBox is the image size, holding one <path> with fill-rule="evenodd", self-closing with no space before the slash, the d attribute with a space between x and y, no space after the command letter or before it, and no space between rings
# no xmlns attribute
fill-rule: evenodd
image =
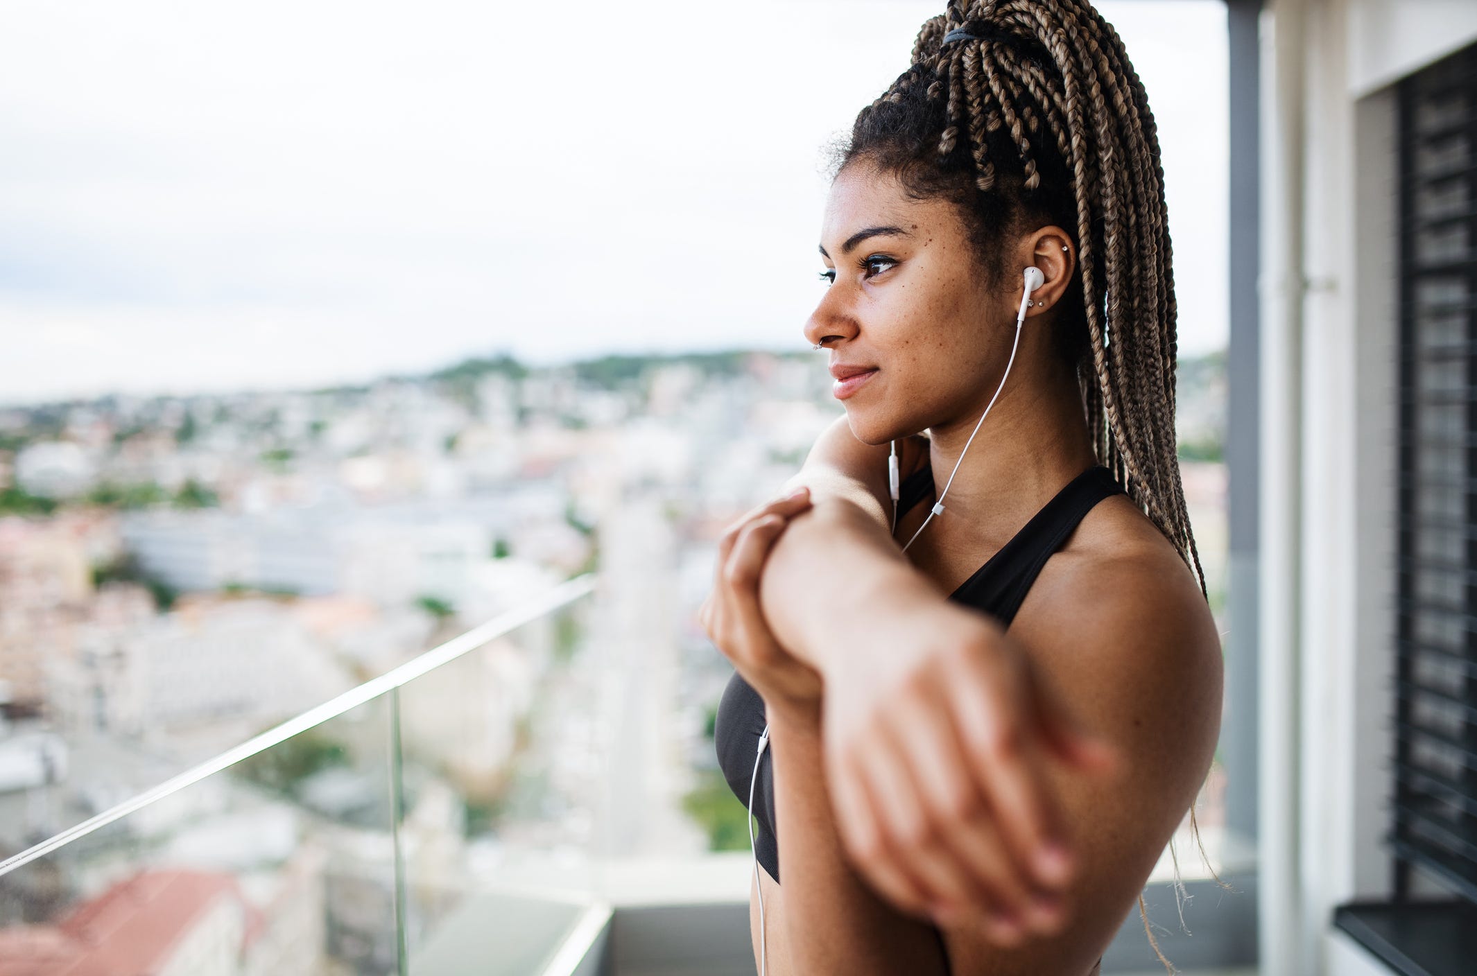
<svg viewBox="0 0 1477 976"><path fill-rule="evenodd" d="M775 641L826 675L861 629L889 617L886 607L945 595L860 504L815 487L811 498L765 560L759 608Z"/></svg>

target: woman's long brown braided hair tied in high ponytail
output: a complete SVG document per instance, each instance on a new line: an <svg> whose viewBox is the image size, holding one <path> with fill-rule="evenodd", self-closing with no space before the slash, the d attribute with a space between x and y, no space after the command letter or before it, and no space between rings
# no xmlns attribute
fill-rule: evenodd
<svg viewBox="0 0 1477 976"><path fill-rule="evenodd" d="M967 35L945 43L956 30ZM1123 40L1089 0L948 0L923 22L910 61L833 146L832 176L864 161L914 199L951 201L991 289L1004 281L1009 232L1074 232L1080 261L1055 354L1077 375L1099 464L1192 567L1208 601L1176 453L1164 168ZM1190 827L1199 842L1193 805ZM1182 893L1177 856L1174 868ZM1170 967L1146 917L1145 932Z"/></svg>

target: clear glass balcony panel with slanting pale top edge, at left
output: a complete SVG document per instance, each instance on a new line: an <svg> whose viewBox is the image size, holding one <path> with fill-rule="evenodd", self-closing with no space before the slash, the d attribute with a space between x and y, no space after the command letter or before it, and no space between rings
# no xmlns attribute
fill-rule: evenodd
<svg viewBox="0 0 1477 976"><path fill-rule="evenodd" d="M592 859L601 670L578 661L594 585L569 580L0 862L0 975L582 958L609 917Z"/></svg>

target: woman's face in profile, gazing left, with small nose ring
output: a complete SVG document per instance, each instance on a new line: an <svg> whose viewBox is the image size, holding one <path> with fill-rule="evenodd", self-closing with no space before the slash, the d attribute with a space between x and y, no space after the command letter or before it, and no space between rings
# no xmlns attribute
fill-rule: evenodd
<svg viewBox="0 0 1477 976"><path fill-rule="evenodd" d="M1010 354L1021 295L987 292L953 204L910 199L894 174L854 162L832 183L821 261L830 283L805 338L827 340L833 375L874 371L832 388L860 440L978 415ZM1018 351L1012 377L1019 366Z"/></svg>

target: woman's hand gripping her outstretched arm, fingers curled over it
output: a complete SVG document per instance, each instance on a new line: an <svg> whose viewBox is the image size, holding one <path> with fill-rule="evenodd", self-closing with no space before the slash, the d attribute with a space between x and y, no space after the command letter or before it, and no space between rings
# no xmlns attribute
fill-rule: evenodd
<svg viewBox="0 0 1477 976"><path fill-rule="evenodd" d="M755 508L718 543L713 591L697 619L734 669L759 693L767 710L820 722L821 676L786 651L759 611L759 573L789 520L811 506L809 489Z"/></svg>

